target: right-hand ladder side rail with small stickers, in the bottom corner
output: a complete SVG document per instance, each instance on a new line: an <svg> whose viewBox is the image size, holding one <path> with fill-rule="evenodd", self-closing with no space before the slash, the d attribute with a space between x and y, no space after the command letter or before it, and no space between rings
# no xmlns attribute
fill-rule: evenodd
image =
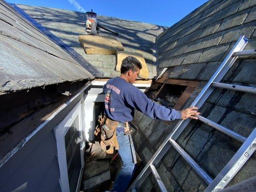
<svg viewBox="0 0 256 192"><path fill-rule="evenodd" d="M219 172L217 177L207 187L205 192L215 192L223 189L235 174L244 166L256 149L256 128L238 149L228 164Z"/></svg>

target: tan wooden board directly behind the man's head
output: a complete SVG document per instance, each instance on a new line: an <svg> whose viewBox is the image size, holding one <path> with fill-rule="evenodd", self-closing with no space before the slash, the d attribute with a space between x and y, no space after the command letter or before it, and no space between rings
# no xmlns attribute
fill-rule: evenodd
<svg viewBox="0 0 256 192"><path fill-rule="evenodd" d="M115 70L117 72L121 71L122 60L129 55L135 57L137 60L139 60L141 62L142 69L140 70L139 77L143 78L143 79L147 79L148 78L148 69L146 66L146 61L140 51L136 51L134 53L125 52L125 51L117 51L116 52L116 68L115 68Z"/></svg>

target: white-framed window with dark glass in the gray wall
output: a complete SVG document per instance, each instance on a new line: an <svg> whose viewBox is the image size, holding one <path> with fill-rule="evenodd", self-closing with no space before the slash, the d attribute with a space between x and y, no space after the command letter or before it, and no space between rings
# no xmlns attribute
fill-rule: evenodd
<svg viewBox="0 0 256 192"><path fill-rule="evenodd" d="M84 167L81 127L81 101L79 101L54 129L61 172L60 183L64 192L79 190Z"/></svg>

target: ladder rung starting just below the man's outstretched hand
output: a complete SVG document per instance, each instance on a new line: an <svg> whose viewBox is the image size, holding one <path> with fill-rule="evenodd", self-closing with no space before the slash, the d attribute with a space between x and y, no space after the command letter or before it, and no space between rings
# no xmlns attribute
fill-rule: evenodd
<svg viewBox="0 0 256 192"><path fill-rule="evenodd" d="M219 130L220 132L223 132L223 133L225 133L225 134L231 136L232 138L234 138L234 139L236 139L236 140L238 140L238 141L240 141L240 142L242 142L242 143L244 143L245 140L246 140L246 138L243 137L242 135L240 135L240 134L238 134L238 133L236 133L236 132L233 132L233 131L227 129L226 127L223 127L223 126L219 125L219 124L216 123L216 122L213 122L213 121L211 121L211 120L208 120L207 118L202 117L202 116L200 116L200 115L197 115L196 117L198 117L199 120L201 120L202 122L206 123L207 125L210 125L211 127L215 128L215 129L217 129L217 130Z"/></svg>

